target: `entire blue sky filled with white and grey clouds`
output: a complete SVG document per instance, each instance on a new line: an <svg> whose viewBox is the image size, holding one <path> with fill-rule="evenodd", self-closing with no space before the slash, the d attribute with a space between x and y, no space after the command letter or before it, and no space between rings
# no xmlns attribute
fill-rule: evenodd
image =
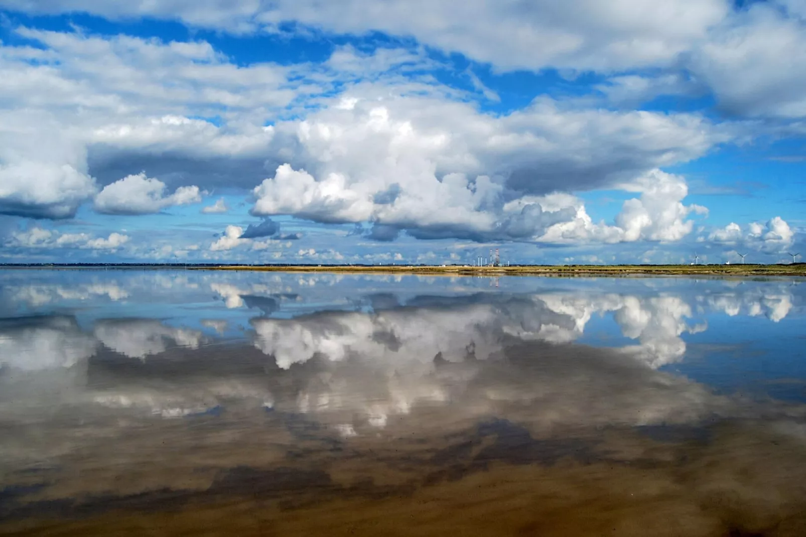
<svg viewBox="0 0 806 537"><path fill-rule="evenodd" d="M0 0L0 73L0 263L806 255L806 0Z"/></svg>

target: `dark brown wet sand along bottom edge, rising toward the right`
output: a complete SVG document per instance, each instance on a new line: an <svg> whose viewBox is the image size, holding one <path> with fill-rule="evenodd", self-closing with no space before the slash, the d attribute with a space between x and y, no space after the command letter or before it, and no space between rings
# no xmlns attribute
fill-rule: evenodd
<svg viewBox="0 0 806 537"><path fill-rule="evenodd" d="M394 450L327 470L239 467L204 491L34 506L4 535L804 535L804 458L767 431L705 445L611 433L596 450L528 460L522 431L426 463ZM511 443L512 445L508 445ZM499 446L499 444L503 444ZM525 450L526 448L526 450ZM513 460L507 460L513 459ZM552 460L555 459L555 460ZM308 464L305 465L309 466ZM61 510L59 518L48 511Z"/></svg>

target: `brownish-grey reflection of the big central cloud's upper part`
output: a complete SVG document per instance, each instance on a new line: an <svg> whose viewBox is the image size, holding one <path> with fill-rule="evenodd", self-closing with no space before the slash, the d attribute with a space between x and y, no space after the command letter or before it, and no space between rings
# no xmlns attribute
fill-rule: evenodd
<svg viewBox="0 0 806 537"><path fill-rule="evenodd" d="M393 429L415 409L428 412L426 422L417 422L423 428L440 427L432 420L451 427L498 414L544 430L689 423L733 411L704 385L625 360L617 351L542 343L502 349L501 359L444 366L401 353L398 360L353 354L313 370L292 367L279 374L300 388L276 408L311 414L344 437Z"/></svg>

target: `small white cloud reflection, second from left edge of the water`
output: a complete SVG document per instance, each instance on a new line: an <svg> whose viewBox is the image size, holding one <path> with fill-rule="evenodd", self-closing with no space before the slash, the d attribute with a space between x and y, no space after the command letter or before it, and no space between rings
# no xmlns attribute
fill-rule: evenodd
<svg viewBox="0 0 806 537"><path fill-rule="evenodd" d="M131 358L159 354L169 346L198 348L202 341L200 331L166 327L151 319L99 321L94 333L106 347Z"/></svg>

